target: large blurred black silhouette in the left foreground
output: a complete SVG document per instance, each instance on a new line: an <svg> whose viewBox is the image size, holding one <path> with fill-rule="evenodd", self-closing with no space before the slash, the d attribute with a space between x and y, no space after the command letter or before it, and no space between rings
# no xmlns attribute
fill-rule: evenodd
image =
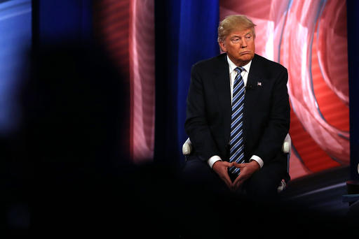
<svg viewBox="0 0 359 239"><path fill-rule="evenodd" d="M129 80L91 43L37 48L28 66L22 126L6 142L17 151L8 150L7 165L15 162L19 174L6 188L15 195L7 199L6 226L18 229L14 224L24 217L12 208L19 204L28 214L20 226L25 232L104 227L124 233L138 223L153 229L168 199L161 197L163 183L172 175L161 166L131 163Z"/></svg>

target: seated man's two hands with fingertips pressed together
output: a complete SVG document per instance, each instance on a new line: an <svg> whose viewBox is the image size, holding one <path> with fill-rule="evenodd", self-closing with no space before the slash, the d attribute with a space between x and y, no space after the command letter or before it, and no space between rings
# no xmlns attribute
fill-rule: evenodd
<svg viewBox="0 0 359 239"><path fill-rule="evenodd" d="M231 178L229 178L228 174L228 168L231 168L232 166L235 166L236 168L241 169L240 175L232 182ZM255 171L258 171L260 166L256 161L250 161L250 163L244 163L244 164L237 164L236 162L227 162L227 161L216 161L215 164L213 164L213 170L219 175L219 178L221 178L231 189L231 191L236 191L245 180L248 180L250 176L255 173Z"/></svg>

